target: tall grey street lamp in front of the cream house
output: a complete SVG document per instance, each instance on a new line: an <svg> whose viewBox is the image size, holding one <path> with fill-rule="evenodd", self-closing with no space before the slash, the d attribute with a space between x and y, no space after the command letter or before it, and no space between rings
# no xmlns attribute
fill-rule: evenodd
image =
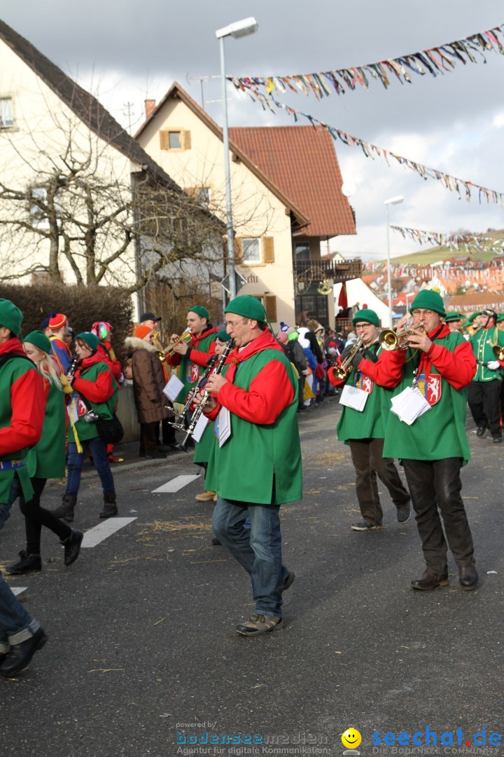
<svg viewBox="0 0 504 757"><path fill-rule="evenodd" d="M221 50L221 84L222 84L222 108L223 108L223 126L222 141L224 142L224 176L226 184L226 226L227 226L227 261L229 268L229 296L232 300L237 296L237 281L234 275L234 234L233 234L233 213L231 209L231 175L229 165L229 129L227 127L227 92L226 92L226 65L224 61L224 39L226 37L249 36L258 30L258 23L255 18L244 18L241 21L230 23L229 26L223 26L215 32L219 41Z"/></svg>

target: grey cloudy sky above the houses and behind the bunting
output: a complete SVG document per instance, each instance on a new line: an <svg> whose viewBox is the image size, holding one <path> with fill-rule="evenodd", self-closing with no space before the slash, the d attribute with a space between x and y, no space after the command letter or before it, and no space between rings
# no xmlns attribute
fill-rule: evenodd
<svg viewBox="0 0 504 757"><path fill-rule="evenodd" d="M36 45L66 73L100 98L133 130L141 123L144 99L160 97L173 81L197 101L200 83L191 77L219 73L215 30L250 15L258 33L226 42L227 73L237 76L333 70L396 58L504 23L499 0L5 0L2 19ZM434 77L412 75L413 84L372 81L323 101L284 95L286 103L354 136L453 176L504 192L504 55ZM264 112L248 97L228 89L231 126L292 123L286 114ZM218 79L204 85L206 110L221 123ZM305 123L305 122L304 122ZM342 174L356 185L351 204L357 236L336 238L332 249L381 259L385 254L383 201L404 195L391 207L391 223L439 232L504 227L499 205L467 203L399 166L386 167L359 148L336 143ZM392 254L416 252L413 241L391 235Z"/></svg>

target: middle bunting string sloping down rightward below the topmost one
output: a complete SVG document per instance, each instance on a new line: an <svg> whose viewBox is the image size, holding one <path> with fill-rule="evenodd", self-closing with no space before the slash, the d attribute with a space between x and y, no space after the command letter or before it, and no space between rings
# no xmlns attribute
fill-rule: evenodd
<svg viewBox="0 0 504 757"><path fill-rule="evenodd" d="M262 98L261 104L263 108L267 106L269 107L271 113L276 114L276 111L273 107L274 104L277 108L281 108L283 111L286 111L289 116L292 116L295 123L297 123L299 117L306 118L311 123L311 126L314 127L314 129L317 129L317 126L320 126L322 129L326 129L326 131L329 132L335 142L338 139L341 139L341 141L345 145L351 147L360 147L363 151L363 154L366 157L373 158L373 160L377 155L383 161L385 161L385 164L389 168L391 167L389 160L393 159L397 160L397 163L400 164L400 166L404 166L405 168L413 170L422 179L437 179L438 182L440 182L441 186L443 186L445 189L448 189L450 192L455 192L459 200L462 199L461 193L463 191L465 194L465 199L469 202L472 197L472 189L474 189L476 192L478 192L478 200L480 204L481 199L484 198L488 204L495 203L504 208L504 194L502 192L497 192L495 189L489 189L487 187L480 186L479 184L474 184L473 182L466 181L465 179L459 179L457 176L451 176L450 173L445 173L444 171L440 171L436 168L430 168L419 163L416 160L410 160L410 158L408 157L397 155L390 150L386 150L385 148L379 147L378 145L373 145L372 142L366 142L365 139L360 139L360 137L352 136L351 134L348 134L348 132L342 131L342 129L336 129L335 126L329 126L328 123L324 123L323 121L318 120L308 113L296 111L294 107L290 107L283 102L278 102L271 96L269 98Z"/></svg>

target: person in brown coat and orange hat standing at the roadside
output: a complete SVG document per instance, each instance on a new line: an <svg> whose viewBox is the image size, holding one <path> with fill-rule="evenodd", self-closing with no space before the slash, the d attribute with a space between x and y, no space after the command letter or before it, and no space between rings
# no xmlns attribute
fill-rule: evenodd
<svg viewBox="0 0 504 757"><path fill-rule="evenodd" d="M165 375L153 344L153 330L148 326L138 326L135 335L126 338L125 347L131 357L133 395L141 425L145 457L164 458L165 452L156 443L156 427L159 421L172 415L162 390Z"/></svg>

